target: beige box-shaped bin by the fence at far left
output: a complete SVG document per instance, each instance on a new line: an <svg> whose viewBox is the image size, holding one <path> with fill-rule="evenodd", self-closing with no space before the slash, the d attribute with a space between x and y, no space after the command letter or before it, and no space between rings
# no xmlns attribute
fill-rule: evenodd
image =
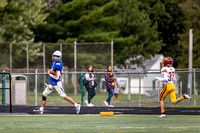
<svg viewBox="0 0 200 133"><path fill-rule="evenodd" d="M11 75L12 105L27 104L27 77L24 75ZM9 91L6 90L6 104L10 103Z"/></svg>

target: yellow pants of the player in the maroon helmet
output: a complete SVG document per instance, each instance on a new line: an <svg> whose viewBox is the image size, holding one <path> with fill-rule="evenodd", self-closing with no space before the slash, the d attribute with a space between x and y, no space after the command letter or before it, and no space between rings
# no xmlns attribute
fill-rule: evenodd
<svg viewBox="0 0 200 133"><path fill-rule="evenodd" d="M164 88L160 93L160 100L165 100L165 97L169 94L171 102L176 100L175 87L174 84L164 84Z"/></svg>

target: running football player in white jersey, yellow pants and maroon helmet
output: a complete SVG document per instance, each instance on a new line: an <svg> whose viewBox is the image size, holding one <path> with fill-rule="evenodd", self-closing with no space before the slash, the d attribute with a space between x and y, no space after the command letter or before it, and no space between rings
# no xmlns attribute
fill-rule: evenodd
<svg viewBox="0 0 200 133"><path fill-rule="evenodd" d="M159 115L158 117L161 117L161 118L165 117L164 100L168 94L173 104L177 104L184 99L191 100L191 97L188 96L187 94L184 94L183 96L176 99L175 87L174 87L175 69L174 67L172 67L172 64L173 64L173 59L171 57L166 57L162 61L162 69L161 69L162 78L155 77L156 80L160 80L164 84L164 87L160 93L161 115Z"/></svg>

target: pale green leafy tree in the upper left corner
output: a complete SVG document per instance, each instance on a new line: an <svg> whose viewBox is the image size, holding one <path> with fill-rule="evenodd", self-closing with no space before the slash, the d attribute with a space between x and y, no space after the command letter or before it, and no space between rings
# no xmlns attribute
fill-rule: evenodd
<svg viewBox="0 0 200 133"><path fill-rule="evenodd" d="M0 2L0 38L3 42L26 42L30 43L34 41L33 27L43 24L47 17L47 14L41 13L42 5L40 1L24 1L24 0L12 0L9 2ZM39 45L31 45L29 50L29 58L34 61L41 56ZM9 45L4 47L5 53L8 53ZM25 67L24 62L26 56L24 52L26 46L18 45L13 50L13 60L16 64L14 67ZM5 55L5 53L3 53ZM8 56L8 54L6 54ZM4 61L9 62L7 57ZM4 63L5 63L4 62ZM4 64L3 63L3 64ZM4 66L4 67L8 67Z"/></svg>

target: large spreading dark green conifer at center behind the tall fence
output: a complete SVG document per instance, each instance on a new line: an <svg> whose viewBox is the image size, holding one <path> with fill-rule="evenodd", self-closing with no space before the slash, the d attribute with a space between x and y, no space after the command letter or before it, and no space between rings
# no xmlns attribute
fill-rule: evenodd
<svg viewBox="0 0 200 133"><path fill-rule="evenodd" d="M36 40L45 42L108 42L114 40L115 64L125 65L128 58L141 64L163 46L156 25L139 7L137 0L73 0L60 2L50 12L47 24L40 25ZM40 32L41 31L41 32ZM93 47L99 49L98 46ZM105 49L99 49L99 52ZM95 56L95 55L94 55ZM85 56L85 59L89 57ZM97 57L92 58L98 60ZM109 59L110 60L110 59ZM87 61L86 61L87 62ZM108 58L102 62L109 64ZM92 62L91 62L92 63ZM97 63L97 62L96 62Z"/></svg>

